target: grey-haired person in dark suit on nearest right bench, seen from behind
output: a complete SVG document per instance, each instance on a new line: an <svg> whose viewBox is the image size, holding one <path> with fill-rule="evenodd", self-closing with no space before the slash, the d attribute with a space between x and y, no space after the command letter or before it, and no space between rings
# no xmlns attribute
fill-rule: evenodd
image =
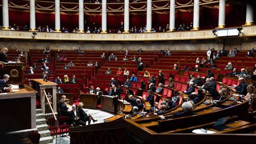
<svg viewBox="0 0 256 144"><path fill-rule="evenodd" d="M192 116L196 114L193 112L194 106L190 101L184 102L182 104L182 108L183 108L183 112L174 113L171 118L186 117L186 116Z"/></svg>

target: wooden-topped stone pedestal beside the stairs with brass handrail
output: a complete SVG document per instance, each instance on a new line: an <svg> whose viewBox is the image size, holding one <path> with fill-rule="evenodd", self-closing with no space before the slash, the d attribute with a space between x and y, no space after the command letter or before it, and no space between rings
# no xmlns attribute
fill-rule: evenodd
<svg viewBox="0 0 256 144"><path fill-rule="evenodd" d="M45 105L47 101L45 100L44 92L43 90L46 91L47 95L52 95L52 98L50 100L52 101L52 107L53 111L57 113L57 101L56 101L56 85L54 82L50 81L43 81L43 79L28 79L29 80L29 85L31 88L36 89L36 91L39 91L37 95L40 97L40 102L41 102L41 109L43 113L51 113L50 111L45 110Z"/></svg>

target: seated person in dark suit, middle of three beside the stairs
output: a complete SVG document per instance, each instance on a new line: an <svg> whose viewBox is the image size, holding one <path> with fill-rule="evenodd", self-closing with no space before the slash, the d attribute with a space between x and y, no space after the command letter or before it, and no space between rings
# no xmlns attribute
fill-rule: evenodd
<svg viewBox="0 0 256 144"><path fill-rule="evenodd" d="M77 124L82 126L86 125L86 122L81 120L79 111L76 110L75 104L72 105L72 111L69 111L69 123L73 126L76 126Z"/></svg>

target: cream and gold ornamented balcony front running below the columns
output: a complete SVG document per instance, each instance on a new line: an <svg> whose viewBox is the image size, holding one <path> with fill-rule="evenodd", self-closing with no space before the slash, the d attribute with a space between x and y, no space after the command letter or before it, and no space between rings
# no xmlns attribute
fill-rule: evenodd
<svg viewBox="0 0 256 144"><path fill-rule="evenodd" d="M84 41L158 41L158 40L193 40L216 39L212 30L177 31L172 33L43 33L32 31L0 30L1 39L36 39L36 40L84 40ZM239 37L256 36L256 25L243 27Z"/></svg>

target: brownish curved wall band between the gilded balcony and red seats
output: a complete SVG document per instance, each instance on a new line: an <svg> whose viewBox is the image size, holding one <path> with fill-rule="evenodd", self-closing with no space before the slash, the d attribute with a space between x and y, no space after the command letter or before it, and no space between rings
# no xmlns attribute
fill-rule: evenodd
<svg viewBox="0 0 256 144"><path fill-rule="evenodd" d="M175 40L175 41L56 41L56 40L18 40L0 39L0 47L9 49L66 49L75 50L206 50L208 47L238 48L247 50L256 47L256 37L212 40Z"/></svg>

